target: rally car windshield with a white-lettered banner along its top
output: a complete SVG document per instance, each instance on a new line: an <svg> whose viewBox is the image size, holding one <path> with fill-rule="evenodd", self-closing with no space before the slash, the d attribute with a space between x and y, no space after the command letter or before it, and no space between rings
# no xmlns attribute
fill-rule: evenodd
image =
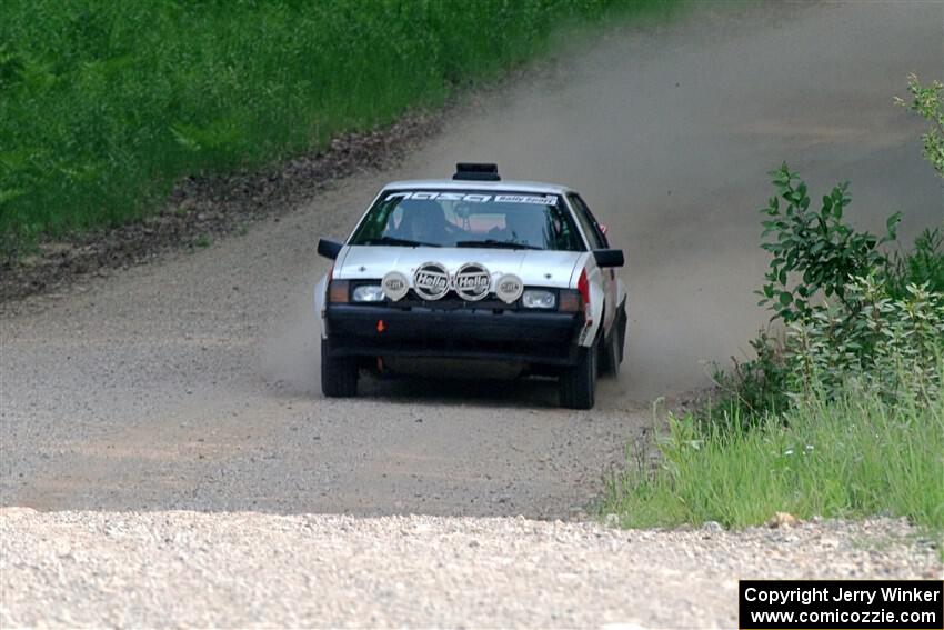
<svg viewBox="0 0 944 630"><path fill-rule="evenodd" d="M585 249L561 196L480 190L388 192L350 244Z"/></svg>

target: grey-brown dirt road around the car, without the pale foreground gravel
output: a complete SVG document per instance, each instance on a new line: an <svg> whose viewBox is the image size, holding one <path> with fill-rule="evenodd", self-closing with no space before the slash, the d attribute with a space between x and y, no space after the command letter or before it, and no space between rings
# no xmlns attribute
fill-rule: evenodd
<svg viewBox="0 0 944 630"><path fill-rule="evenodd" d="M572 34L533 80L470 97L394 171L339 182L281 220L8 309L0 504L354 517L582 518L650 403L706 384L765 321L765 171L902 236L940 223L921 123L892 104L942 73L944 3L703 4L671 24ZM585 192L627 254L627 369L589 412L550 382L317 387L319 236L344 237L391 179L459 160ZM27 561L27 560L24 560ZM669 592L666 597L671 597Z"/></svg>

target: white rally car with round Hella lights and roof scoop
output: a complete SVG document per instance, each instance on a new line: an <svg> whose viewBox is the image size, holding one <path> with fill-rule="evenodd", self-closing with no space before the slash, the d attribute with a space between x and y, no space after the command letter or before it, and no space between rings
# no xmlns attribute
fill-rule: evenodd
<svg viewBox="0 0 944 630"><path fill-rule="evenodd" d="M388 184L347 242L318 243L334 261L314 291L324 394L436 358L556 377L562 406L590 409L626 331L605 231L573 190L501 181L494 164Z"/></svg>

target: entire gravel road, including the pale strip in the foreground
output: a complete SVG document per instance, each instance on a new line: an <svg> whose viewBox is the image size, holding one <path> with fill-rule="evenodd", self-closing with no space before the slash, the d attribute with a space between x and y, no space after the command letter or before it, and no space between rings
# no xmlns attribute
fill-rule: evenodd
<svg viewBox="0 0 944 630"><path fill-rule="evenodd" d="M877 227L902 210L905 239L941 220L921 123L892 97L908 72L940 77L944 3L703 4L672 24L583 39L562 38L533 80L470 97L394 169L335 182L209 248L3 306L0 506L51 512L3 521L3 626L69 626L67 612L160 623L161 606L198 624L583 624L632 622L636 610L656 626L729 623L730 602L711 593L743 567L846 570L832 557L823 566L819 542L767 532L479 518L583 518L623 444L652 424L652 399L683 400L706 384L703 361L741 353L765 321L751 290L766 170L786 159L816 193L850 179L855 220ZM317 237L345 234L383 182L448 176L463 159L585 191L625 248L629 366L601 383L596 409L558 409L542 381L368 381L355 400L317 391ZM424 517L293 516L307 513ZM875 560L856 527L827 530L850 571L924 570ZM415 528L428 529L404 536ZM174 579L154 594L124 588L161 571ZM689 572L704 589L656 610L646 593L692 584ZM198 583L192 607L173 594ZM516 589L532 589L520 608ZM257 598L269 608L251 609Z"/></svg>

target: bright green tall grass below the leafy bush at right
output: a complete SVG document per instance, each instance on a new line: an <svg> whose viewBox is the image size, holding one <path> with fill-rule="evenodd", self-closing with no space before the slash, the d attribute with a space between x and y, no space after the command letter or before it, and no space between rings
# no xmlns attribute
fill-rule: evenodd
<svg viewBox="0 0 944 630"><path fill-rule="evenodd" d="M800 518L907 517L944 531L944 399L890 406L848 391L783 416L704 423L673 418L659 459L614 477L601 513L625 527Z"/></svg>

